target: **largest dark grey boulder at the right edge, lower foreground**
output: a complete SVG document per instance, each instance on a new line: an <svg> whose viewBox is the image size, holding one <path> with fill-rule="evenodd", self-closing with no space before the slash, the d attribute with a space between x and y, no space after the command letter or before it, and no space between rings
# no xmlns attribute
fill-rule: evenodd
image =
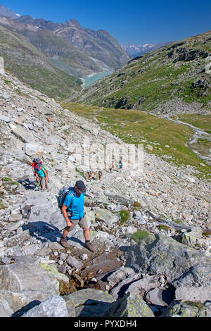
<svg viewBox="0 0 211 331"><path fill-rule="evenodd" d="M125 250L126 266L136 272L165 275L176 288L210 285L210 258L170 237L151 234Z"/></svg>

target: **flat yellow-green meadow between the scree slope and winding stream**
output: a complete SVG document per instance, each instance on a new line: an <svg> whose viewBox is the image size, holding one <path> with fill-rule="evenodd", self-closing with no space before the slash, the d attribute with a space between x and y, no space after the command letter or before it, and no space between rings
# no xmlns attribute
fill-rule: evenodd
<svg viewBox="0 0 211 331"><path fill-rule="evenodd" d="M191 165L201 174L210 174L210 166L188 148L193 130L186 125L173 123L143 111L72 103L62 103L61 106L90 120L97 120L103 130L108 130L124 142L143 144L148 153L177 165Z"/></svg>

